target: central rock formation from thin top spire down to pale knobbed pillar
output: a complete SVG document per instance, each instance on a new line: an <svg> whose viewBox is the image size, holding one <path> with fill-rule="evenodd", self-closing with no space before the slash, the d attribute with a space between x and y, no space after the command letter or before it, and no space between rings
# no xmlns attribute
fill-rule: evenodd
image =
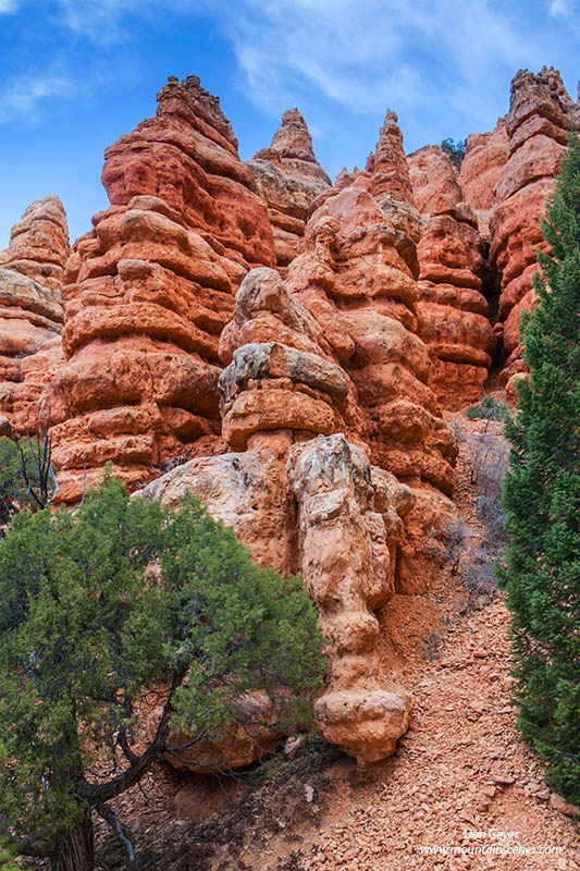
<svg viewBox="0 0 580 871"><path fill-rule="evenodd" d="M361 761L393 752L409 722L409 694L380 667L374 612L395 589L428 582L416 569L453 511L441 490L453 486L456 453L416 335L417 252L399 226L417 231L421 219L400 198L410 182L388 121L377 189L391 220L371 173L342 176L313 204L286 283L256 269L237 292L220 341L220 400L224 441L238 453L193 459L141 491L175 503L193 487L262 564L301 572L331 641L318 728ZM231 740L230 753L247 759Z"/></svg>

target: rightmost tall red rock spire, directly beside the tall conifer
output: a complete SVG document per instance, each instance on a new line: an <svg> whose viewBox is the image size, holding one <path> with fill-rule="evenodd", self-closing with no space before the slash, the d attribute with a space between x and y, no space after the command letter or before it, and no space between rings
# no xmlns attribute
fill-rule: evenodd
<svg viewBox="0 0 580 871"><path fill-rule="evenodd" d="M491 218L491 259L502 274L499 319L509 355L505 381L523 369L519 320L534 305L538 247L546 249L540 221L569 132L579 121L580 110L556 70L544 66L538 75L520 70L515 76L506 115L508 161L495 187Z"/></svg>

